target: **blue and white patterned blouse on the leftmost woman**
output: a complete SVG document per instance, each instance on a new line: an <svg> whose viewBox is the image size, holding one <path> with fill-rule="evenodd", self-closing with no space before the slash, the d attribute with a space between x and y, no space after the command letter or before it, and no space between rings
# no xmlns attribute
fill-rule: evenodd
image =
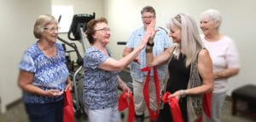
<svg viewBox="0 0 256 122"><path fill-rule="evenodd" d="M47 57L38 48L38 43L26 49L20 61L20 70L33 73L32 84L42 90L65 90L68 77L68 69L65 60L65 51L61 44L55 44L57 54L55 57ZM25 103L57 102L63 96L46 97L38 96L23 91Z"/></svg>

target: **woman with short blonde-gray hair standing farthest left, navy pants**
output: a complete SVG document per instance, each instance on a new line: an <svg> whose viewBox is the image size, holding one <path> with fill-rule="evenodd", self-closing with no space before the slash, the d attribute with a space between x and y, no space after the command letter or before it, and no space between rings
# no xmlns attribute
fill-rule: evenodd
<svg viewBox="0 0 256 122"><path fill-rule="evenodd" d="M34 24L35 44L20 61L18 84L31 122L62 122L63 93L71 89L65 52L56 43L58 22L52 15L39 15Z"/></svg>

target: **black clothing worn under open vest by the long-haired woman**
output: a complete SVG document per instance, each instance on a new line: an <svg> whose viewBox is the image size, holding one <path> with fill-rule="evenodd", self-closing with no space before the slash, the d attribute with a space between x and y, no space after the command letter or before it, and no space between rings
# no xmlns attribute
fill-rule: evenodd
<svg viewBox="0 0 256 122"><path fill-rule="evenodd" d="M168 64L169 71L169 79L166 84L166 91L174 93L177 90L186 90L189 83L189 75L190 75L190 66L185 66L186 56L181 54L179 59L175 59L172 57L172 60ZM180 98L179 106L181 108L183 114L184 122L188 121L188 113L187 113L187 98ZM160 110L158 122L172 122L172 113L170 112L170 108L168 103L164 105L164 108Z"/></svg>

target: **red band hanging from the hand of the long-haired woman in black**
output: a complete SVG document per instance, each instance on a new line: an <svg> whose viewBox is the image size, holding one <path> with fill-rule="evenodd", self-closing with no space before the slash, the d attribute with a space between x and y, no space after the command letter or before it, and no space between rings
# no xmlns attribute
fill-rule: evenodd
<svg viewBox="0 0 256 122"><path fill-rule="evenodd" d="M162 101L169 104L173 122L183 122L183 115L181 113L177 99L175 97L168 98L170 95L171 93L166 91L165 95L162 97Z"/></svg>

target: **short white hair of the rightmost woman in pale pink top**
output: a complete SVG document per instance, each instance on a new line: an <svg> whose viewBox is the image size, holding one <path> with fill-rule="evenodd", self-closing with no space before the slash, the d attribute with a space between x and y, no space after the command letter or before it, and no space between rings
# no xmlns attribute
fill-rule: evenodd
<svg viewBox="0 0 256 122"><path fill-rule="evenodd" d="M207 9L203 13L201 13L201 19L210 18L212 21L218 23L218 28L222 23L222 15L218 12L217 9Z"/></svg>

